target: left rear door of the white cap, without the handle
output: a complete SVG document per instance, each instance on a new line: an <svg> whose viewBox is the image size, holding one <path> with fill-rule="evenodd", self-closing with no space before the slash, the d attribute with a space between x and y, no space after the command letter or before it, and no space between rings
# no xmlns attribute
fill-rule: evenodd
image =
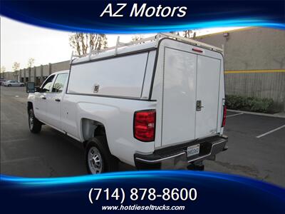
<svg viewBox="0 0 285 214"><path fill-rule="evenodd" d="M165 48L162 146L195 139L197 55Z"/></svg>

